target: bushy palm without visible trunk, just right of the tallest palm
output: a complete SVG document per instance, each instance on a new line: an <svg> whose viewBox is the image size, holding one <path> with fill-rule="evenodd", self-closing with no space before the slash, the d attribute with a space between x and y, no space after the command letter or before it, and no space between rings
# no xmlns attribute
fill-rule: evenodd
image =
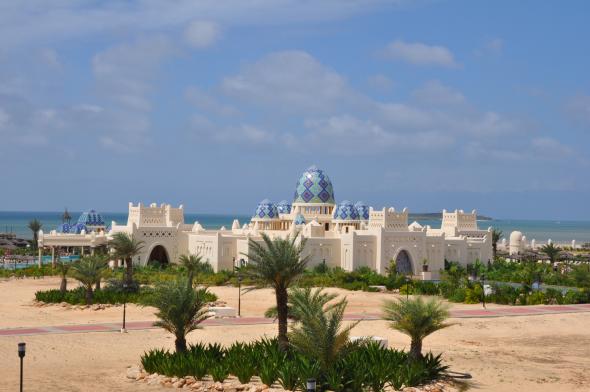
<svg viewBox="0 0 590 392"><path fill-rule="evenodd" d="M317 360L320 370L326 372L337 362L348 344L351 329L360 321L342 326L346 298L327 304L335 296L323 293L322 289L297 289L293 294L290 300L298 323L289 334L291 345Z"/></svg>

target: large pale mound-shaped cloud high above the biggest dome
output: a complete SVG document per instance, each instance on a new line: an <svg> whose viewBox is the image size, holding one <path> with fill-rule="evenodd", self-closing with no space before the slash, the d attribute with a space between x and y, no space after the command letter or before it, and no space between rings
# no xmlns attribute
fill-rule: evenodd
<svg viewBox="0 0 590 392"><path fill-rule="evenodd" d="M285 111L326 111L350 102L345 79L302 51L269 54L222 82L225 94Z"/></svg>

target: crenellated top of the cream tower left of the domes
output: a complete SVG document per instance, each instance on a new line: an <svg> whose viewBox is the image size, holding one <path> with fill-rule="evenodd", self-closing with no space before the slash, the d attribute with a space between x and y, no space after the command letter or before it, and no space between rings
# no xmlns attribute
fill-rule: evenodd
<svg viewBox="0 0 590 392"><path fill-rule="evenodd" d="M165 203L159 206L156 203L152 203L149 206L144 206L142 203L138 203L135 206L133 203L129 203L128 226L135 224L137 227L171 227L179 223L184 224L184 207L182 204L178 208L174 208L170 204Z"/></svg>

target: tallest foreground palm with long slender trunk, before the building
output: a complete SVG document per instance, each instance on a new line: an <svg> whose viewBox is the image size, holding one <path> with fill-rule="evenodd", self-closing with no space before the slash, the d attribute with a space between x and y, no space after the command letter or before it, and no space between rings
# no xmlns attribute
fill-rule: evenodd
<svg viewBox="0 0 590 392"><path fill-rule="evenodd" d="M302 257L305 240L297 245L298 235L287 238L271 239L262 234L262 243L249 240L248 265L244 275L256 284L256 288L270 286L274 289L277 303L277 319L279 321L279 345L287 350L287 306L289 295L287 289L305 271L309 256Z"/></svg>

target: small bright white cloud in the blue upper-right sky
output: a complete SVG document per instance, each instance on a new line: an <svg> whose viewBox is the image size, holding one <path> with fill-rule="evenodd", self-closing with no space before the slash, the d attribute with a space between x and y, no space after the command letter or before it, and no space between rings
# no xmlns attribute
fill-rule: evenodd
<svg viewBox="0 0 590 392"><path fill-rule="evenodd" d="M382 51L387 58L405 61L414 65L433 65L457 68L453 53L444 46L427 45L421 42L404 42L395 40Z"/></svg>

